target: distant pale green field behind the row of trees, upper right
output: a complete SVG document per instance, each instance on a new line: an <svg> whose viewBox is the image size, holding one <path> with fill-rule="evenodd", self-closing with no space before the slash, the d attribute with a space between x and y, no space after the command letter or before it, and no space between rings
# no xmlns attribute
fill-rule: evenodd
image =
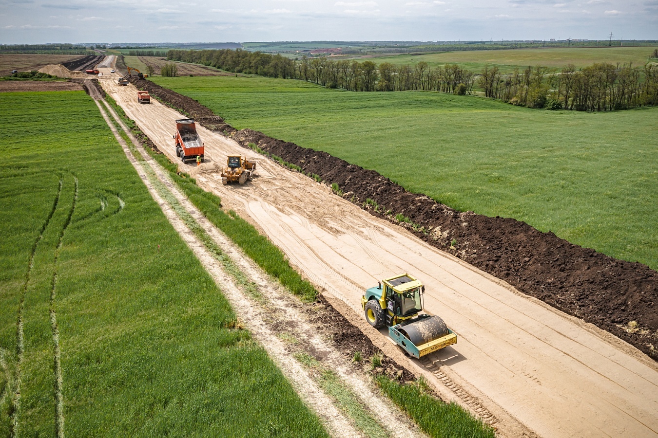
<svg viewBox="0 0 658 438"><path fill-rule="evenodd" d="M390 62L393 65L414 65L420 61L434 67L445 64L459 64L475 73L484 66L497 66L503 73L513 72L515 67L521 70L527 66L547 66L561 69L567 64L576 68L590 66L595 62L644 66L655 47L561 47L557 49L513 49L513 50L476 50L463 52L444 52L427 54L401 54L386 56L357 56L355 59L372 60L376 64Z"/></svg>

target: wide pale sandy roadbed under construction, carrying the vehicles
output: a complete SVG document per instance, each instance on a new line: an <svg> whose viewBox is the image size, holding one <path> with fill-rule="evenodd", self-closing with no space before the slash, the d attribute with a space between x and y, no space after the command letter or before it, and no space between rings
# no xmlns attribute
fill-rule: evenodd
<svg viewBox="0 0 658 438"><path fill-rule="evenodd" d="M174 120L183 116L155 100L139 104L136 89L116 85L109 70L99 79L177 160L171 136ZM222 204L251 218L328 298L345 303L350 320L363 320L363 290L384 276L407 271L426 284L427 311L440 315L459 343L411 366L442 395L476 400L505 435L658 436L658 367L636 349L368 215L326 186L206 129L200 135L206 162L185 165L186 171ZM258 162L257 177L245 186L222 186L216 169L227 154L245 152ZM388 342L368 333L378 345Z"/></svg>

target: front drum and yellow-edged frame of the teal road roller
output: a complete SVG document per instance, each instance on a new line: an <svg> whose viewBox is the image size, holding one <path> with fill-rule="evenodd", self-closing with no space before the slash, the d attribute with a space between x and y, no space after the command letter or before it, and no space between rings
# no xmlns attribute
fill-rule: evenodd
<svg viewBox="0 0 658 438"><path fill-rule="evenodd" d="M397 324L391 326L388 332L397 345L418 359L457 343L457 335L447 328L440 317L424 317L409 324Z"/></svg>

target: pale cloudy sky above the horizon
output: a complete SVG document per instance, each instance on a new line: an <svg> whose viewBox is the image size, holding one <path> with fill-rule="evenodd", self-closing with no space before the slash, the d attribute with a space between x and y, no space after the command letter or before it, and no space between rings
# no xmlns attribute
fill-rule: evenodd
<svg viewBox="0 0 658 438"><path fill-rule="evenodd" d="M658 39L658 0L0 0L0 43Z"/></svg>

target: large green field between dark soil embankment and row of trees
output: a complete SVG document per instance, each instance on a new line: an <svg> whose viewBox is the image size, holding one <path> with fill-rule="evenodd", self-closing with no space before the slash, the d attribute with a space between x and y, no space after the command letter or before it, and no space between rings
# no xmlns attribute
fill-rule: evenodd
<svg viewBox="0 0 658 438"><path fill-rule="evenodd" d="M658 108L588 114L257 77L157 77L237 128L376 169L460 210L514 217L658 269Z"/></svg>

